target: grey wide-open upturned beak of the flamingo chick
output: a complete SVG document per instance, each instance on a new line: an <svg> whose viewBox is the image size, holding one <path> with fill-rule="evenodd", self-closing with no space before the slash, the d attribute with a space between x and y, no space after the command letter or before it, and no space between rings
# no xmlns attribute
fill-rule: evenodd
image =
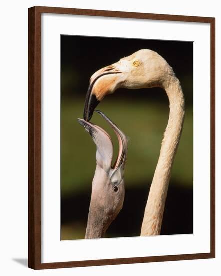
<svg viewBox="0 0 221 276"><path fill-rule="evenodd" d="M114 132L117 135L118 142L119 142L119 152L116 158L116 161L113 166L112 158L113 158L113 144L109 134L91 122L88 122L83 119L78 119L78 122L85 128L87 132L91 135L94 143L97 147L96 159L97 162L101 165L102 168L106 170L116 169L120 166L124 168L126 158L127 158L127 138L125 134L112 122L106 115L104 115L101 111L96 110L98 114L100 114L113 128Z"/></svg>

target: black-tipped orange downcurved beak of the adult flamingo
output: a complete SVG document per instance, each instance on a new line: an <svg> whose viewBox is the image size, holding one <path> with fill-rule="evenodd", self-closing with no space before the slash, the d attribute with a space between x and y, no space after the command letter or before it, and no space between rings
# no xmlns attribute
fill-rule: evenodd
<svg viewBox="0 0 221 276"><path fill-rule="evenodd" d="M97 85L100 78L106 75L116 75L120 73L121 72L118 71L114 65L109 65L98 70L92 75L84 103L83 118L85 121L89 121L91 119L100 100L102 100L106 94L111 92L112 85L115 81L114 78L107 78L106 82L102 83L102 85Z"/></svg>

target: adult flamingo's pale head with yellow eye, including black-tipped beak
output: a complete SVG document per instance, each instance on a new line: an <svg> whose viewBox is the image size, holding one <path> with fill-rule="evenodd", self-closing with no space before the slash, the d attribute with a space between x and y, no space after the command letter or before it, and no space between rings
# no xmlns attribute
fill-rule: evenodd
<svg viewBox="0 0 221 276"><path fill-rule="evenodd" d="M84 120L89 121L105 95L118 88L164 87L172 68L158 53L141 49L118 62L96 71L90 78L84 104Z"/></svg>

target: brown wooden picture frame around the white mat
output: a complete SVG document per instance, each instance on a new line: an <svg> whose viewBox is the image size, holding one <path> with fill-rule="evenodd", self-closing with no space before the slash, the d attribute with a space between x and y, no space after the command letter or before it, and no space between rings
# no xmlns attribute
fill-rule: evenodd
<svg viewBox="0 0 221 276"><path fill-rule="evenodd" d="M41 263L41 14L72 14L210 23L211 250L210 253ZM28 9L28 267L33 269L215 258L215 18L35 6Z"/></svg>

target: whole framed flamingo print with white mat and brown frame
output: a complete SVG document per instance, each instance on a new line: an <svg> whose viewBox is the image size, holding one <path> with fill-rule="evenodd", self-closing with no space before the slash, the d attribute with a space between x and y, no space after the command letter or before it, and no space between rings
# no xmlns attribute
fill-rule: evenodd
<svg viewBox="0 0 221 276"><path fill-rule="evenodd" d="M28 21L28 266L214 258L215 19Z"/></svg>

